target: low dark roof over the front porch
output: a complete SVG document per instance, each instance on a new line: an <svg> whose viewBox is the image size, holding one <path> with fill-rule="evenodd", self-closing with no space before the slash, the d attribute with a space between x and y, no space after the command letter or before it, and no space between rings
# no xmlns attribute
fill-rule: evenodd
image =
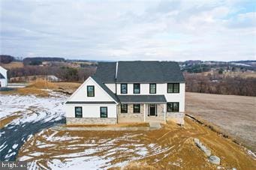
<svg viewBox="0 0 256 170"><path fill-rule="evenodd" d="M120 103L167 103L164 95L119 95Z"/></svg>

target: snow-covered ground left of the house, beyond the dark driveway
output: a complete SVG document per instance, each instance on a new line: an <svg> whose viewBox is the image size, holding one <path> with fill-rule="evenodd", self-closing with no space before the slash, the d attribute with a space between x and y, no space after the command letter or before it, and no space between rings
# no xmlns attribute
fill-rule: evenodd
<svg viewBox="0 0 256 170"><path fill-rule="evenodd" d="M15 113L22 113L20 118L14 119L10 124L58 121L65 114L62 103L66 98L66 96L55 92L51 92L51 97L1 95L0 119Z"/></svg>

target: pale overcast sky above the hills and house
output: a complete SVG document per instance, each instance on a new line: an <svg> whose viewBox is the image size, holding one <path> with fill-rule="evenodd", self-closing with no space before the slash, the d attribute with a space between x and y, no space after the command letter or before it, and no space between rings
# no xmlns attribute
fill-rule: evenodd
<svg viewBox="0 0 256 170"><path fill-rule="evenodd" d="M0 53L5 55L256 59L256 0L0 1Z"/></svg>

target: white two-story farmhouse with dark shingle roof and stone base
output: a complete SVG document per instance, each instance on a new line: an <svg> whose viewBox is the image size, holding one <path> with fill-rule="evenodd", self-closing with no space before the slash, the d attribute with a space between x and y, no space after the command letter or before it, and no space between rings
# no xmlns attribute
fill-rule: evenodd
<svg viewBox="0 0 256 170"><path fill-rule="evenodd" d="M101 62L65 103L67 124L182 124L185 79L173 61Z"/></svg>

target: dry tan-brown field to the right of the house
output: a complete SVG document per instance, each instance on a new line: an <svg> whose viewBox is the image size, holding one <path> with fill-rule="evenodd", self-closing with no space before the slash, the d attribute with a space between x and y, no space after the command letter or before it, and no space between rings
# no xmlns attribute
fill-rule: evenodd
<svg viewBox="0 0 256 170"><path fill-rule="evenodd" d="M187 92L185 110L256 152L256 97Z"/></svg>

